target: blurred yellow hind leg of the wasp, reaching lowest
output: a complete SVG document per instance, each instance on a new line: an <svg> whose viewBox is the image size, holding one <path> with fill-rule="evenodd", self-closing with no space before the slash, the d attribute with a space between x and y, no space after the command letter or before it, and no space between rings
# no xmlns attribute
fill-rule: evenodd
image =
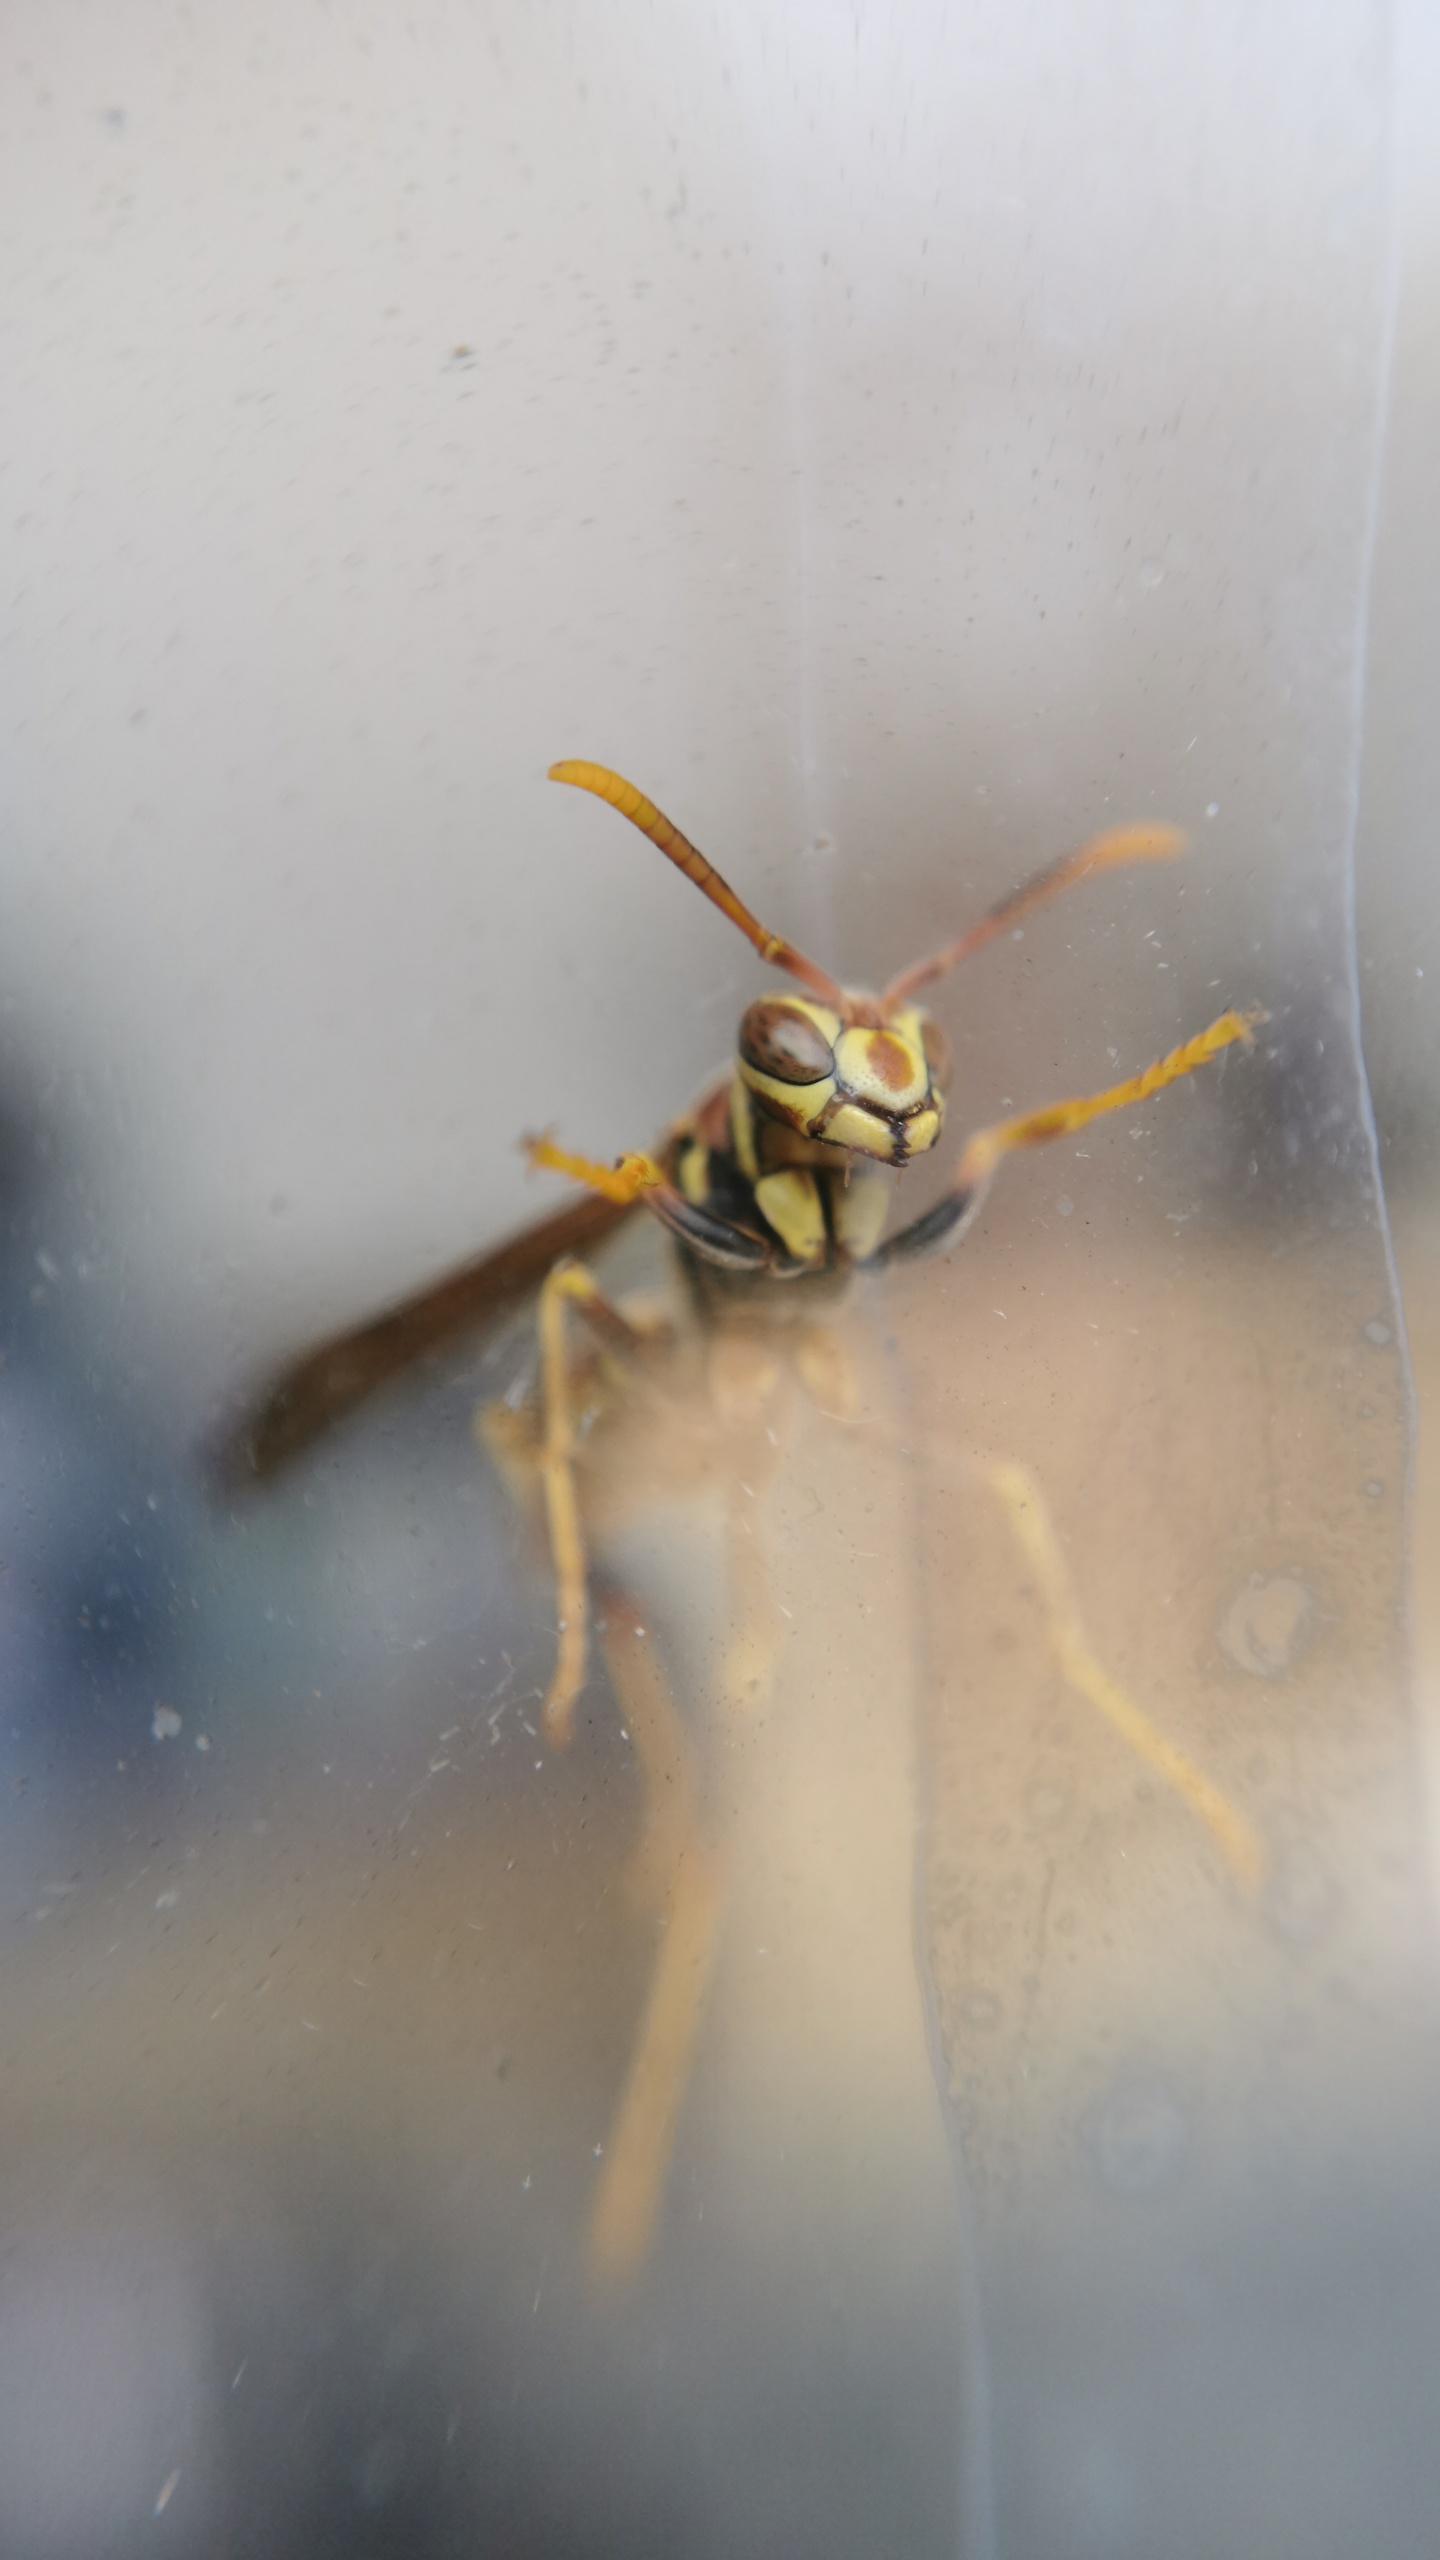
<svg viewBox="0 0 1440 2560"><path fill-rule="evenodd" d="M589 2207L589 2266L618 2278L641 2266L661 2209L715 1964L723 1876L700 1828L684 1725L633 1600L607 1592L600 1641L646 1782L638 1879L664 1915L646 2015Z"/></svg>

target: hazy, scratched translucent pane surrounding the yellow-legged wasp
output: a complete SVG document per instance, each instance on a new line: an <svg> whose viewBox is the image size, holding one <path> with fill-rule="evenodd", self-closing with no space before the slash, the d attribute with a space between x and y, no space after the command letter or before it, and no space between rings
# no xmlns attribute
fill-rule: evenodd
<svg viewBox="0 0 1440 2560"><path fill-rule="evenodd" d="M46 0L0 46L3 2547L1414 2552L1350 950L1384 13ZM269 1505L197 1459L548 1201L523 1129L615 1155L725 1057L751 955L556 755L853 980L1184 824L945 991L956 1132L1268 1011L866 1290L748 1457L712 1403L635 1431L605 1559L728 1907L620 2291L656 1923L623 1702L536 1736L553 1597L471 1436L525 1331ZM1061 1682L999 1459L1253 1889Z"/></svg>

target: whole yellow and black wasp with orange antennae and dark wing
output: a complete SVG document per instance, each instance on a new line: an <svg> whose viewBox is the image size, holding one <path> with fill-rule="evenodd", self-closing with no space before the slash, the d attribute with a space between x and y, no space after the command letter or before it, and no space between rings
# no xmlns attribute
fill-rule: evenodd
<svg viewBox="0 0 1440 2560"><path fill-rule="evenodd" d="M623 776L571 760L551 765L551 781L589 791L630 819L746 934L761 963L792 983L746 1009L733 1062L653 1149L600 1165L548 1137L528 1139L530 1162L569 1175L577 1196L405 1306L305 1354L272 1385L231 1459L241 1477L277 1475L415 1359L538 1300L536 1388L520 1403L484 1408L479 1439L546 1531L556 1651L543 1733L553 1748L569 1743L597 1633L641 1759L641 1866L664 1923L592 2207L592 2263L615 2273L643 2258L661 2204L715 1958L723 1866L646 1615L592 1564L607 1528L607 1452L615 1454L625 1421L648 1405L651 1418L661 1418L659 1444L674 1449L661 1500L692 1490L707 1469L738 1472L751 1490L764 1444L779 1444L771 1426L776 1344L789 1339L812 1400L846 1413L843 1362L817 1313L853 1272L948 1252L1007 1155L1068 1137L1194 1075L1248 1042L1263 1016L1230 1009L1122 1083L969 1132L933 1206L889 1229L894 1178L945 1132L951 1052L920 993L1081 881L1179 855L1179 829L1135 824L1092 837L876 996L840 986L761 924L697 845ZM615 1303L589 1267L587 1257L638 1211L659 1219L674 1244L684 1277L679 1313ZM697 1408L705 1416L700 1444L694 1428L679 1423ZM679 1449L687 1431L689 1454ZM1092 1656L1035 1480L1020 1467L994 1467L992 1490L1027 1554L1063 1677L1181 1792L1232 1871L1256 1882L1258 1848L1243 1818ZM753 1551L735 1562L751 1590L738 1613L730 1687L753 1697L769 1677L758 1633L764 1608Z"/></svg>

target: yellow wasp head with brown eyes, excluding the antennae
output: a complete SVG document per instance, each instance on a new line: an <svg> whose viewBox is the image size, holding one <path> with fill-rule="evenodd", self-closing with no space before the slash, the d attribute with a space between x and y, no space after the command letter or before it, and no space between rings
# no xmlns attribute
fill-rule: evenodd
<svg viewBox="0 0 1440 2560"><path fill-rule="evenodd" d="M740 1021L738 1078L758 1119L907 1165L940 1134L945 1042L917 1006L889 1021L869 998L846 1021L810 996L764 996Z"/></svg>

